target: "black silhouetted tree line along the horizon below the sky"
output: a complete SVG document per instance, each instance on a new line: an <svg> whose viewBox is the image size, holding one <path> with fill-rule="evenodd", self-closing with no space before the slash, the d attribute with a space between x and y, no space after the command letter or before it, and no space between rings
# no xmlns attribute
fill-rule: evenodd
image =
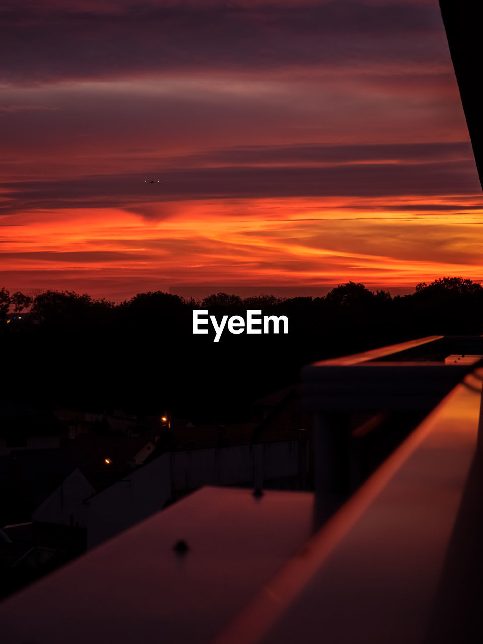
<svg viewBox="0 0 483 644"><path fill-rule="evenodd" d="M287 335L193 336L193 308L285 315ZM21 321L17 318L21 317ZM14 319L15 317L15 319ZM10 320L10 322L8 322ZM184 299L161 291L114 304L73 291L0 290L3 395L78 408L121 406L198 421L247 419L257 398L295 383L302 366L415 337L483 332L483 287L419 283L391 297L348 282L326 296Z"/></svg>

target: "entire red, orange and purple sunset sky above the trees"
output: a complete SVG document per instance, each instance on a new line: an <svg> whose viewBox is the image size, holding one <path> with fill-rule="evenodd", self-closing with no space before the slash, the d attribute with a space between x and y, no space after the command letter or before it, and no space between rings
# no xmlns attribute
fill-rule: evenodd
<svg viewBox="0 0 483 644"><path fill-rule="evenodd" d="M437 0L7 0L0 24L0 287L483 280Z"/></svg>

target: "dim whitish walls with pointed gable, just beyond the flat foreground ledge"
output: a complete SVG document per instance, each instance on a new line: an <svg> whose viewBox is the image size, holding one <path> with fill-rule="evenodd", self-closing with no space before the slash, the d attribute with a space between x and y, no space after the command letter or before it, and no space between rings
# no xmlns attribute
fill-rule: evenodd
<svg viewBox="0 0 483 644"><path fill-rule="evenodd" d="M205 485L253 485L257 450L263 453L258 484L299 474L299 445L295 440L172 452L133 470L97 494L76 469L32 518L68 526L72 515L74 525L87 528L87 545L91 548L161 510L179 492Z"/></svg>

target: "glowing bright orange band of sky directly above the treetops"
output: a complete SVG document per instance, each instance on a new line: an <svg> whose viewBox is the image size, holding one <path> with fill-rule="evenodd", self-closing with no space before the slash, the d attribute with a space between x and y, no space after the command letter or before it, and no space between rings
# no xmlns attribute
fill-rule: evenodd
<svg viewBox="0 0 483 644"><path fill-rule="evenodd" d="M457 213L437 209L455 200ZM435 198L435 210L417 214L408 207L418 196L393 199L396 211L380 210L387 201L334 198L324 207L313 198L184 202L172 204L163 220L124 209L31 212L15 218L20 228L3 227L8 253L0 256L0 270L11 276L9 290L83 290L115 301L178 285L295 292L350 280L389 290L411 290L441 276L483 281L477 195L463 200L466 211L460 196Z"/></svg>

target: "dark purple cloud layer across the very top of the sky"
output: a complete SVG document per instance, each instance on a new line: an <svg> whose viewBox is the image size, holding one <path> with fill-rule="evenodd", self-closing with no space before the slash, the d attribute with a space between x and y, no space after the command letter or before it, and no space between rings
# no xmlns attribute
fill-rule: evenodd
<svg viewBox="0 0 483 644"><path fill-rule="evenodd" d="M81 6L7 6L0 14L0 80L360 66L382 55L405 64L449 60L436 3Z"/></svg>

